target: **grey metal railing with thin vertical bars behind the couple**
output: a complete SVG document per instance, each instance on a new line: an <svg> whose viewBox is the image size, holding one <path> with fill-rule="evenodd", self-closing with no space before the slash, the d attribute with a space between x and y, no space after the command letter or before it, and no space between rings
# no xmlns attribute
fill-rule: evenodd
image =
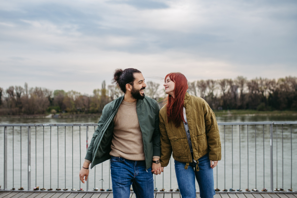
<svg viewBox="0 0 297 198"><path fill-rule="evenodd" d="M221 143L222 143L222 160L218 163L218 166L216 167L216 171L214 171L214 178L215 178L215 184L216 184L216 191L220 191L218 189L218 184L223 187L223 191L228 191L228 192L233 192L233 191L242 191L242 183L245 183L247 189L246 191L249 190L250 183L252 183L254 188L252 191L261 191L257 190L257 180L263 180L263 189L262 191L267 191L265 188L265 180L270 180L270 191L284 191L284 175L285 175L285 186L290 185L289 191L293 191L293 187L297 187L297 181L296 178L293 178L293 149L294 151L297 151L296 148L293 148L293 142L296 141L297 139L297 131L296 128L294 128L294 131L292 129L292 125L297 125L297 122L224 122L224 123L218 123L219 128L220 128L220 136L221 136ZM279 126L281 126L281 130L279 130ZM9 188L12 188L11 190L15 190L14 188L14 178L15 178L15 171L18 172L19 174L19 190L24 190L25 188L22 187L22 169L26 167L26 176L27 176L27 182L26 182L26 190L33 190L32 188L32 181L31 181L31 174L34 166L35 170L35 187L37 187L37 181L38 177L42 177L42 183L43 183L43 188L40 190L46 190L45 189L45 179L46 182L48 183L48 190L52 190L52 168L56 166L56 179L57 182L54 184L57 188L55 189L56 191L61 190L59 188L59 181L64 180L64 189L65 191L68 190L66 187L66 182L69 183L69 181L72 182L72 188L71 190L74 191L75 188L74 186L79 187L78 190L81 190L81 185L83 185L81 182L79 182L78 178L78 172L80 170L80 167L82 166L81 162L84 159L85 152L82 153L82 145L81 145L81 135L84 135L86 137L86 148L88 149L88 140L89 140L89 128L97 127L97 124L0 124L0 127L3 127L3 189L8 190ZM24 133L23 129L26 129L27 133ZM35 128L35 140L31 139L32 129ZM55 130L54 132L52 129L56 128L56 134ZM63 129L61 132L61 128ZM67 130L66 130L67 128ZM82 130L83 128L83 130ZM237 130L238 128L238 130ZM266 128L266 130L265 130ZM42 131L40 130L42 129ZM46 129L46 130L45 130ZM60 130L59 130L60 129ZM252 129L249 130L249 129ZM17 136L19 136L19 139L15 140L16 135L15 131L17 131ZM84 131L84 133L82 133ZM249 132L248 132L249 131ZM284 137L284 132L285 132L285 137ZM40 137L42 133L42 138ZM46 136L45 137L45 133ZM74 133L75 133L75 138L74 139ZM275 134L275 138L274 138ZM77 135L79 136L79 141L77 140ZM279 167L278 164L279 162L279 137L281 135L281 145L282 145L282 151L281 151L281 158L282 158L282 171L281 174L279 175ZM294 137L292 136L294 135ZM25 136L27 139L27 145L22 146L22 143L24 144L24 141L22 141L22 136ZM64 137L63 137L64 136ZM253 137L254 136L254 137ZM37 140L37 137L39 137L39 140L42 140L42 148L41 147L41 141ZM64 141L59 141L63 137ZM261 137L259 141L259 137ZM24 138L24 137L23 137ZM56 139L56 141L52 141ZM32 140L35 142L35 153L32 152L31 150L31 142ZM68 141L67 141L68 140ZM227 141L226 141L227 140ZM231 140L231 141L230 141ZM286 151L284 155L284 140L286 142ZM17 141L17 144L15 146L15 141ZM45 142L46 141L46 142ZM68 144L67 144L68 142ZM72 144L71 144L72 142ZM273 146L275 143L275 147ZM290 145L290 149L288 147L288 144ZM79 144L79 149L77 149ZM261 145L262 144L262 145ZM265 145L266 144L266 145ZM9 145L9 147L8 147ZM69 150L69 145L71 145L71 149ZM269 152L270 155L267 157L265 155L265 148L267 150L267 145L269 146ZM19 146L19 151L17 153L15 152L15 147ZM56 146L55 148L52 148L52 146ZM60 148L59 148L60 146ZM263 149L259 149L259 147L263 147ZM266 147L265 147L266 146ZM67 149L68 147L68 149ZM8 151L8 148L9 151ZM47 153L49 153L49 157L45 155L45 148L47 149ZM64 148L64 149L63 149ZM235 148L235 149L234 149ZM254 157L250 157L251 154L253 154L254 149ZM22 150L24 153L24 150L27 150L26 154L27 156L22 155ZM41 151L42 150L42 151ZM75 153L78 153L79 150L79 159L75 158L78 154L74 153L74 150L76 150ZM244 152L243 152L244 150ZM276 153L273 151L276 150ZM86 151L86 150L85 150ZM290 151L289 155L286 154ZM53 153L55 152L55 153ZM61 169L61 165L59 165L59 158L61 159L61 154L64 155L64 159L62 160L61 163L64 163L64 167L62 170L62 175L61 172L59 172L59 168ZM231 154L231 156L230 156ZM290 155L291 154L291 155ZM18 156L19 155L19 156ZM31 155L35 156L35 164L33 163L33 166L31 166ZM52 155L56 155L56 157L52 158ZM45 157L46 156L46 157ZM71 156L71 157L70 157ZM261 157L262 156L262 157ZM290 166L288 168L288 164L286 163L286 167L284 169L284 156L286 158L286 161L290 161ZM0 156L1 157L1 156ZM7 158L8 157L8 158ZM18 164L19 168L15 168L14 163L15 163L15 158L19 157L20 163ZM82 158L83 157L83 158ZM22 162L22 159L27 159L27 162L24 164ZM41 166L37 165L37 162L39 164L41 163L41 158L42 158L42 176L41 173L39 174L39 170L41 169ZM234 158L236 159L234 161ZM257 167L257 158L260 158L260 162L258 160L258 163L263 163L262 169L259 170L259 166ZM9 159L9 160L8 160ZM46 162L45 162L46 159ZM227 159L227 161L226 161ZM54 161L52 161L54 160ZM78 162L74 163L74 161L78 161L80 166L78 167ZM254 160L254 161L253 161ZM72 163L71 163L72 161ZM266 163L265 163L266 161ZM269 165L267 166L267 161L269 161ZM8 162L10 166L8 166ZM56 163L56 164L55 164ZM107 165L108 163L108 165ZM239 163L239 164L238 164ZM273 164L276 164L276 168L274 168ZM103 168L103 164L105 168ZM242 165L244 164L244 165ZM251 165L252 164L252 165ZM266 164L266 165L265 165ZM46 167L45 167L46 165ZM75 167L75 173L74 173L74 166ZM99 165L98 165L99 166ZM97 168L98 168L97 166ZM154 176L154 184L155 187L161 186L162 184L162 190L160 191L166 191L165 189L169 189L169 191L172 191L172 182L174 182L174 185L177 187L176 179L172 179L172 158L169 163L170 166L170 173L166 168L164 169L164 173L162 175L162 182L159 178L160 176L155 177ZM252 166L252 169L251 169ZM68 168L67 168L68 167ZM103 177L108 177L108 189L107 191L111 191L110 188L110 162L103 162L101 163L101 189L100 191L105 191L103 189ZM218 169L220 168L220 171ZM247 171L242 171L243 168L246 168ZM9 170L8 170L9 169ZM71 170L71 179L69 178L69 169ZM108 169L108 170L107 170ZM226 169L227 169L227 175L226 175ZM267 170L269 169L269 174L267 174ZM103 171L104 170L104 171ZM94 171L94 173L92 172ZM99 190L96 188L96 166L93 170L90 170L90 175L89 179L84 185L87 191L89 191L89 182L90 178L94 177L94 182L92 181L92 184L94 184L94 189L93 190ZM262 176L257 175L259 171L262 171ZM45 175L46 172L46 175ZM67 174L68 172L68 174ZM92 172L92 173L91 173ZM228 174L229 172L229 174ZM232 174L231 174L232 172ZM254 176L251 176L251 173L254 173ZM73 175L76 175L75 178ZM105 175L105 176L104 176ZM166 178L168 178L169 182L165 182L164 184L164 175ZM242 179L242 175L245 175L247 178ZM268 177L267 177L268 175ZM12 176L12 177L11 177ZM64 176L64 177L63 177ZM68 177L66 177L68 176ZM235 177L236 176L236 177ZM244 177L245 177L244 176ZM279 177L281 176L282 180L282 185L281 188L278 189L278 183L279 183ZM290 176L290 177L289 177ZM227 178L227 182L226 182ZM294 179L294 181L293 181ZM39 179L40 180L40 179ZM168 181L165 179L165 181ZM276 180L276 181L275 181ZM105 179L106 181L106 179ZM231 181L231 182L230 182ZM234 189L234 181L236 182L236 185L239 186L239 189L235 190ZM238 182L237 182L238 181ZM275 182L274 182L275 181ZM9 185L8 183L9 182ZM74 182L76 183L74 185ZM79 182L79 185L78 185ZM156 184L159 183L159 184ZM169 187L170 183L170 187ZM0 183L1 185L1 183ZM69 184L68 184L69 185ZM107 186L107 183L104 182L104 185ZM165 185L165 186L164 186ZM226 189L226 185L231 187L229 190ZM276 186L276 189L274 189L274 186ZM107 187L106 187L107 188ZM38 190L38 189L35 189Z"/></svg>

